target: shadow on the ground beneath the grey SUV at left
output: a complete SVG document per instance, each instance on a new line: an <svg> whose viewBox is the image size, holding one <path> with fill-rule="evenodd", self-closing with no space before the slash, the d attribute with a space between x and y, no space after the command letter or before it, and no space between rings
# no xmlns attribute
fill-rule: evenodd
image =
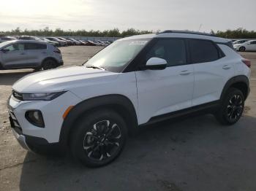
<svg viewBox="0 0 256 191"><path fill-rule="evenodd" d="M22 71L1 71L0 72L0 85L13 85L18 79L33 73L33 70Z"/></svg>

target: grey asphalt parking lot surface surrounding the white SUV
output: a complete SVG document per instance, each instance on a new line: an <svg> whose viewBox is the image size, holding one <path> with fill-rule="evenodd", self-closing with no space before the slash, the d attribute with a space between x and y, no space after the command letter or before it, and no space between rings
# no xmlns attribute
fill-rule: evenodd
<svg viewBox="0 0 256 191"><path fill-rule="evenodd" d="M64 66L80 65L101 47L61 47ZM211 115L148 126L110 165L86 168L71 157L36 155L12 136L6 101L32 70L0 71L0 190L256 190L256 52L251 93L236 125Z"/></svg>

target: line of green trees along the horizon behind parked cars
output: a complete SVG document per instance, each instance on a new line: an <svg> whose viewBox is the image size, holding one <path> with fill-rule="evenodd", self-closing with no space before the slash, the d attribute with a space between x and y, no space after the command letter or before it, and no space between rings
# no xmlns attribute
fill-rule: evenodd
<svg viewBox="0 0 256 191"><path fill-rule="evenodd" d="M29 35L29 36L100 36L100 37L124 37L138 34L151 34L158 31L140 31L135 28L128 28L125 31L119 31L118 28L113 28L111 30L95 31L95 30L77 30L77 31L64 31L61 28L56 28L52 30L48 27L39 30L21 30L20 28L13 29L11 31L0 31L0 34L6 35ZM256 39L256 31L247 31L244 28L237 28L235 30L226 31L213 31L211 34L215 34L219 37L224 37L228 39Z"/></svg>

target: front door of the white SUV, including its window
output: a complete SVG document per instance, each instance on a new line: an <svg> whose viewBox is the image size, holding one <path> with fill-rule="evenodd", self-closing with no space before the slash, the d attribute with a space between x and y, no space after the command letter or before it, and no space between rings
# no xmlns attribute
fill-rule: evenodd
<svg viewBox="0 0 256 191"><path fill-rule="evenodd" d="M157 57L167 61L163 70L135 71L138 87L139 123L151 117L192 106L193 66L187 64L184 39L158 39L143 55L143 60Z"/></svg>

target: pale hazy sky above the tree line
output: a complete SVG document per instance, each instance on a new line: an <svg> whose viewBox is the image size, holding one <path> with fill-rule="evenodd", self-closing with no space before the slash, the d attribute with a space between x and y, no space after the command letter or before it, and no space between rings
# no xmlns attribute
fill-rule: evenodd
<svg viewBox="0 0 256 191"><path fill-rule="evenodd" d="M256 0L2 0L0 31L17 27L256 31Z"/></svg>

